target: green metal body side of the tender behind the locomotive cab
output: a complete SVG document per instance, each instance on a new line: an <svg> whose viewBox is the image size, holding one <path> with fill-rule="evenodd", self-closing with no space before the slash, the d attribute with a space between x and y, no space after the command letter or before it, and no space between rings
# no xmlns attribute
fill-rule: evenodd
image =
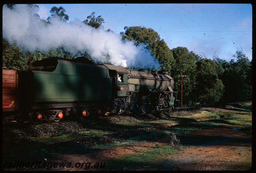
<svg viewBox="0 0 256 173"><path fill-rule="evenodd" d="M58 60L52 72L33 71L33 103L108 102L112 79L99 64Z"/></svg>

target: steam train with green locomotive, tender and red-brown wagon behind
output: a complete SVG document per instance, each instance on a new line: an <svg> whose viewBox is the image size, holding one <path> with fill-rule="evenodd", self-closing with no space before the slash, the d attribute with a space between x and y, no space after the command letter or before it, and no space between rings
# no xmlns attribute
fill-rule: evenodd
<svg viewBox="0 0 256 173"><path fill-rule="evenodd" d="M173 87L167 72L131 71L94 64L85 57L49 57L30 63L27 71L3 70L3 113L14 113L18 122L37 124L66 116L83 120L106 112L159 112L174 107Z"/></svg>

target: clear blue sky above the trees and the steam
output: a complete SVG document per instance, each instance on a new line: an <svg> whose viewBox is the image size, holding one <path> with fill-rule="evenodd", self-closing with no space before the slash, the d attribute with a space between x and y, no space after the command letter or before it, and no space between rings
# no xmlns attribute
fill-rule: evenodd
<svg viewBox="0 0 256 173"><path fill-rule="evenodd" d="M187 47L198 55L212 58L214 52L230 61L237 49L252 60L251 4L38 4L41 19L53 6L62 6L67 22L79 22L93 11L101 15L104 29L116 34L124 26L154 29L167 46Z"/></svg>

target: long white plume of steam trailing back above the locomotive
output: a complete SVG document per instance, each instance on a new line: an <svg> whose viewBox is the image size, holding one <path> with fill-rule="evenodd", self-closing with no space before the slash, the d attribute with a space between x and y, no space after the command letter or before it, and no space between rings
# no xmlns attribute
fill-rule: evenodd
<svg viewBox="0 0 256 173"><path fill-rule="evenodd" d="M82 21L65 22L52 17L50 23L35 17L39 8L27 4L15 4L13 9L3 6L3 38L9 43L29 51L46 52L63 48L76 54L90 54L95 62L106 62L124 67L159 68L151 51L144 45L135 46L132 41L122 41L119 34L105 31L103 27L94 28Z"/></svg>

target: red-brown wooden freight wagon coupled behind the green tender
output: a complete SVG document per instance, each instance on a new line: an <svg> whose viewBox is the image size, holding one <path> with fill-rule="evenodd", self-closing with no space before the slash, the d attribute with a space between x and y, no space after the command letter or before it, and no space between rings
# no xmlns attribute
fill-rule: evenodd
<svg viewBox="0 0 256 173"><path fill-rule="evenodd" d="M3 115L14 115L17 105L18 73L3 69Z"/></svg>

